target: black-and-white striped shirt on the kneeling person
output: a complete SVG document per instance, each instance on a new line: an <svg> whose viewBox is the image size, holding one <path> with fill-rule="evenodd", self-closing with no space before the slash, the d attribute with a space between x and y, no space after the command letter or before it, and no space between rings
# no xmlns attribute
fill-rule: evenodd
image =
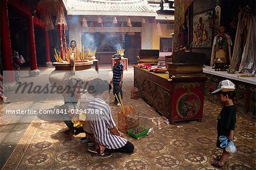
<svg viewBox="0 0 256 170"><path fill-rule="evenodd" d="M102 109L102 114L95 114L97 110ZM90 110L90 112L89 112ZM92 114L94 110L94 114ZM120 136L113 135L110 128L115 127L115 122L112 118L111 110L108 103L100 97L95 97L88 105L88 117L90 127L94 132L94 138L97 143L106 148L113 150L118 149L127 143L127 140Z"/></svg>

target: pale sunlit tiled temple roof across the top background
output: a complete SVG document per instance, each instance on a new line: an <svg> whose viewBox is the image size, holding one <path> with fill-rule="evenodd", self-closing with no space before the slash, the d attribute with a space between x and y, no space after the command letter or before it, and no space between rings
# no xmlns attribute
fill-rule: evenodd
<svg viewBox="0 0 256 170"><path fill-rule="evenodd" d="M159 4L147 0L68 0L68 15L157 16Z"/></svg>

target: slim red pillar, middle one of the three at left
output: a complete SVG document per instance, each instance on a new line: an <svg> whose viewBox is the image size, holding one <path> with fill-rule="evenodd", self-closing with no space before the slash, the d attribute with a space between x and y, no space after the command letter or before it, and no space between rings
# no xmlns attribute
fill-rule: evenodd
<svg viewBox="0 0 256 170"><path fill-rule="evenodd" d="M30 69L38 69L36 63L36 48L35 48L35 30L33 16L28 17L28 37L30 39Z"/></svg>

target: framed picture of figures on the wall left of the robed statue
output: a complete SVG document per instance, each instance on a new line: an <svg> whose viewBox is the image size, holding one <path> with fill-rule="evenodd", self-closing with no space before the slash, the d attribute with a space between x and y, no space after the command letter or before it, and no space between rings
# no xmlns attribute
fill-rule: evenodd
<svg viewBox="0 0 256 170"><path fill-rule="evenodd" d="M212 47L212 31L216 27L214 11L193 16L193 47Z"/></svg>

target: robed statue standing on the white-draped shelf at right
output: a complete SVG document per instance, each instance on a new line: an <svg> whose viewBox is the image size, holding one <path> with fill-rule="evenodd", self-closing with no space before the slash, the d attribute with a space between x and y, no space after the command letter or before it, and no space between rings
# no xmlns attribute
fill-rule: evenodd
<svg viewBox="0 0 256 170"><path fill-rule="evenodd" d="M210 58L210 66L215 69L225 69L232 59L231 45L232 40L225 33L226 28L220 27L220 33L214 37L212 46L212 55Z"/></svg>

